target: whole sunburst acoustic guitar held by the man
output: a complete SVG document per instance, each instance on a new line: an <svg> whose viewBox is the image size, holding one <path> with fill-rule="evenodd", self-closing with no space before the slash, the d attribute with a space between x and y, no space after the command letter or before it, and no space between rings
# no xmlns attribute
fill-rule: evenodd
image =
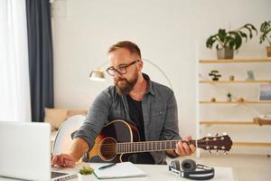
<svg viewBox="0 0 271 181"><path fill-rule="evenodd" d="M163 151L176 148L179 140L140 141L135 126L124 120L108 123L95 139L89 151L89 162L124 162L131 154L139 152ZM229 151L232 141L228 135L205 137L187 142L205 150Z"/></svg>

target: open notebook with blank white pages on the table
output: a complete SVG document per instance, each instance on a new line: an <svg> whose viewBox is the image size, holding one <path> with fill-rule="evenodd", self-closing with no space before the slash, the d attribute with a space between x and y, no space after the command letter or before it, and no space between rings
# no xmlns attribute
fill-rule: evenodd
<svg viewBox="0 0 271 181"><path fill-rule="evenodd" d="M106 166L90 164L90 167L93 167L94 174L98 178L122 178L122 177L137 177L137 176L146 176L145 171L137 167L131 162L121 162L117 163L115 166L107 167L104 169L98 169L99 167Z"/></svg>

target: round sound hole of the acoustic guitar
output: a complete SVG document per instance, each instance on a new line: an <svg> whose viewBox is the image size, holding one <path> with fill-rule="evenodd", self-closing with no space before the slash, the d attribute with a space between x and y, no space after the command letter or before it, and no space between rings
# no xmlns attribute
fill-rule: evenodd
<svg viewBox="0 0 271 181"><path fill-rule="evenodd" d="M110 161L116 157L117 142L114 138L105 138L100 144L99 156L103 160Z"/></svg>

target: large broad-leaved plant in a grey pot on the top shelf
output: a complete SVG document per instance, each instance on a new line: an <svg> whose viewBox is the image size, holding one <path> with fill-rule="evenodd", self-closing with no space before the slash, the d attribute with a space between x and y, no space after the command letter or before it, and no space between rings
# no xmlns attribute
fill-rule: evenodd
<svg viewBox="0 0 271 181"><path fill-rule="evenodd" d="M244 30L247 30L247 33ZM218 33L207 39L206 47L211 49L216 44L218 59L232 59L233 52L238 51L243 39L247 42L248 38L253 37L253 31L257 34L257 29L252 24L245 24L237 30L228 32L226 29L220 29Z"/></svg>

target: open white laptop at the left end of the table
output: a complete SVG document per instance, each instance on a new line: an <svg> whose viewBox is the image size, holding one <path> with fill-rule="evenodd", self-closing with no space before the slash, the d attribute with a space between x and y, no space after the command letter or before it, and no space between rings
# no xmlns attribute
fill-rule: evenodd
<svg viewBox="0 0 271 181"><path fill-rule="evenodd" d="M49 123L0 121L0 176L55 181L77 174L51 173Z"/></svg>

